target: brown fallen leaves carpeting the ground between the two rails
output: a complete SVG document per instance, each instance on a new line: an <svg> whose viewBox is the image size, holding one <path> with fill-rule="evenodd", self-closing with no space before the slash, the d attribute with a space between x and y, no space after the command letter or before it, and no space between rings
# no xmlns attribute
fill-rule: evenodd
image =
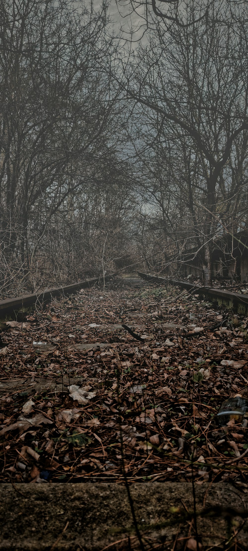
<svg viewBox="0 0 248 551"><path fill-rule="evenodd" d="M130 483L193 476L248 491L247 419L215 417L247 397L247 323L175 287L118 280L7 322L2 482L120 483L124 469Z"/></svg>

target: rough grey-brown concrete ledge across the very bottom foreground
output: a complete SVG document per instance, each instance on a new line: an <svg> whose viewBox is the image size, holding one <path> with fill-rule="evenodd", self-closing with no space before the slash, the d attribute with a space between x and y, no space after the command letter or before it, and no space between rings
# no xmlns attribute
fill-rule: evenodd
<svg viewBox="0 0 248 551"><path fill-rule="evenodd" d="M190 483L136 483L130 488L143 536L156 541L162 537L164 542L172 541L177 533L187 538L189 522L182 520L182 515L193 508ZM196 485L198 511L203 503L206 507L233 507L244 517L248 496L228 484L204 483ZM118 484L17 484L15 489L11 484L2 484L0 518L1 550L100 551L122 542L113 545L116 550L128 549L128 536L131 547L136 541L127 491ZM224 548L232 533L230 521L226 514L198 517L203 545L219 544L219 549L222 545ZM245 545L247 521L236 515L235 531L242 522L238 541Z"/></svg>

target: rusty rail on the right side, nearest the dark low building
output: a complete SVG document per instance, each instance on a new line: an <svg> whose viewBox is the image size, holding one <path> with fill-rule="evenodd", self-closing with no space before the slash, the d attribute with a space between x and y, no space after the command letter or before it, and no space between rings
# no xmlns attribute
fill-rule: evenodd
<svg viewBox="0 0 248 551"><path fill-rule="evenodd" d="M211 302L218 302L219 305L223 305L226 308L233 310L241 315L248 314L248 295L241 293L231 293L230 291L224 291L223 289L214 289L213 287L201 287L193 283L186 281L178 281L176 279L166 279L159 276L153 276L152 274L145 274L138 272L139 277L148 281L157 281L159 283L170 283L177 287L182 287L188 291L196 291L198 295L207 296Z"/></svg>

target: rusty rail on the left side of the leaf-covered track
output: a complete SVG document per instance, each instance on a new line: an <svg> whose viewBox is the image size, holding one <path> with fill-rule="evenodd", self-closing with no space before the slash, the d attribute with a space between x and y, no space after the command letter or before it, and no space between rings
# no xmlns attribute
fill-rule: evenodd
<svg viewBox="0 0 248 551"><path fill-rule="evenodd" d="M105 282L109 281L115 274L105 276ZM86 289L92 287L96 283L103 282L103 276L99 278L88 279L87 281L79 281L72 283L71 285L63 285L63 287L57 287L55 289L48 289L39 293L33 293L31 295L17 296L14 299L7 299L0 301L0 319L3 319L7 315L12 315L14 312L18 312L21 309L26 309L28 306L38 303L39 305L45 302L50 302L56 296L68 296L78 289Z"/></svg>

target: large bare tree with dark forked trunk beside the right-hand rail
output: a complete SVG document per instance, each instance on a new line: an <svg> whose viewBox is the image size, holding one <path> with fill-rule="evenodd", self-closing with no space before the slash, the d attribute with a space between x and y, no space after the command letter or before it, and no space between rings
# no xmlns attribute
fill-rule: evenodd
<svg viewBox="0 0 248 551"><path fill-rule="evenodd" d="M211 3L207 9L201 0L180 6L176 21L168 27L158 18L149 45L130 55L124 68L120 62L126 75L125 94L136 118L158 118L157 136L174 135L179 145L193 235L201 240L204 283L209 284L219 224L216 214L227 216L234 196L244 186L246 13L242 4L232 0ZM152 134L154 127L153 122Z"/></svg>

